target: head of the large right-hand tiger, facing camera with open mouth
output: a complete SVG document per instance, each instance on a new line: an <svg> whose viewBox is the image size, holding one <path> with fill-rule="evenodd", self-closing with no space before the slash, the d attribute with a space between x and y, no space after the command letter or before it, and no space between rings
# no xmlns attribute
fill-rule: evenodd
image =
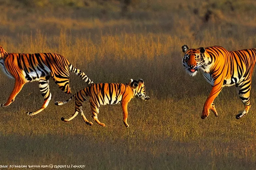
<svg viewBox="0 0 256 170"><path fill-rule="evenodd" d="M187 45L183 45L181 48L184 52L182 63L189 75L195 76L199 68L209 72L211 59L204 47L189 49Z"/></svg>

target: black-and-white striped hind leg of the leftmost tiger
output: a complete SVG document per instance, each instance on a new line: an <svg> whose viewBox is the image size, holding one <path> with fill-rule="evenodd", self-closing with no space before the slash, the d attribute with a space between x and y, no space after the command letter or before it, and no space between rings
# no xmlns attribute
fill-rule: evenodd
<svg viewBox="0 0 256 170"><path fill-rule="evenodd" d="M40 79L39 80L39 89L40 89L40 92L41 92L42 96L44 97L44 103L43 103L43 105L41 106L40 109L38 109L35 112L27 112L26 113L27 115L29 115L29 116L36 115L39 112L42 112L48 106L48 104L51 100L51 97L52 97L52 94L50 93L48 83L49 83L49 80L46 80L46 79Z"/></svg>

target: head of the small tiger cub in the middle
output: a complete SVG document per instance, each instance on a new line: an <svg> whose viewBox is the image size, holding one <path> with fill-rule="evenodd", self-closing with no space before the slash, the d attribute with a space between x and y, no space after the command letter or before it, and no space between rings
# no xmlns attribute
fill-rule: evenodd
<svg viewBox="0 0 256 170"><path fill-rule="evenodd" d="M146 94L146 87L142 79L139 79L138 81L131 79L128 85L133 89L133 96L137 96L142 100L149 100L149 97Z"/></svg>

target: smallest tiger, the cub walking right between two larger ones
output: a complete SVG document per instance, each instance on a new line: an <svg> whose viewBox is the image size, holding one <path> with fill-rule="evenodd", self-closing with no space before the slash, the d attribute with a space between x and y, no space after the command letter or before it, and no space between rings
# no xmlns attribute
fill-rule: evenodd
<svg viewBox="0 0 256 170"><path fill-rule="evenodd" d="M144 85L144 81L142 79L133 80L131 79L129 83L99 83L99 84L92 84L85 89L82 89L72 95L66 101L56 101L55 105L63 105L73 97L75 97L75 113L69 119L61 118L64 122L69 122L74 119L78 113L81 114L84 122L87 125L93 125L92 122L89 122L86 117L84 116L82 110L82 103L84 101L90 102L92 118L95 122L97 122L100 126L105 127L104 123L101 123L98 120L99 114L99 107L100 105L113 105L121 103L123 109L123 123L125 127L129 127L127 124L128 118L128 110L127 106L130 100L137 96L142 100L149 100L150 98L146 95L146 87Z"/></svg>

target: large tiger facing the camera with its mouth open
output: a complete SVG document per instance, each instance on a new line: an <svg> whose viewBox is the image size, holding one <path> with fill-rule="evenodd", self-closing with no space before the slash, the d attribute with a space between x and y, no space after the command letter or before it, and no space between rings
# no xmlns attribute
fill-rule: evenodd
<svg viewBox="0 0 256 170"><path fill-rule="evenodd" d="M235 85L238 95L244 105L236 119L242 118L251 108L250 90L252 72L256 62L256 48L228 51L221 46L200 47L189 49L182 46L183 66L189 75L195 76L201 70L204 78L212 89L204 104L202 119L209 116L210 110L217 117L214 100L225 86Z"/></svg>

